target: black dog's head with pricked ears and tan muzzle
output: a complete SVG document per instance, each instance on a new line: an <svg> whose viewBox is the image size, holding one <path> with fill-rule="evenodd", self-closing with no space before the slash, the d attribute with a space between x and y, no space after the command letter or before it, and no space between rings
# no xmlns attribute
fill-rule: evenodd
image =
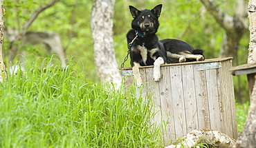
<svg viewBox="0 0 256 148"><path fill-rule="evenodd" d="M162 4L156 6L152 10L138 10L133 6L129 6L131 16L134 20L131 23L131 28L137 30L141 34L155 34L158 30Z"/></svg>

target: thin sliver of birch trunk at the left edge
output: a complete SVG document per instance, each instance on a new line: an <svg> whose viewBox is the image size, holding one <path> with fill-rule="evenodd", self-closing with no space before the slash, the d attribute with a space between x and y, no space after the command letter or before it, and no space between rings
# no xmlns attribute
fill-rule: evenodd
<svg viewBox="0 0 256 148"><path fill-rule="evenodd" d="M3 8L3 0L1 0L1 10L0 10L0 81L3 82L7 78L6 75L6 66L3 63L3 54L2 54L2 47L3 47L3 14L4 14L4 8Z"/></svg>

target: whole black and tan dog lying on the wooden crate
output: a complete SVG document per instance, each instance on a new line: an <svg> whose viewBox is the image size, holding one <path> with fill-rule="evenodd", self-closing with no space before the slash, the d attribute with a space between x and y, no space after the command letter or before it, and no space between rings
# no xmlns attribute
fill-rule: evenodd
<svg viewBox="0 0 256 148"><path fill-rule="evenodd" d="M132 29L127 33L127 43L137 85L143 83L138 69L140 66L154 65L154 81L160 81L162 64L204 59L203 50L194 50L191 45L183 41L175 39L158 41L156 32L159 27L161 4L152 10L138 10L133 6L129 6L129 9L134 20L131 22Z"/></svg>

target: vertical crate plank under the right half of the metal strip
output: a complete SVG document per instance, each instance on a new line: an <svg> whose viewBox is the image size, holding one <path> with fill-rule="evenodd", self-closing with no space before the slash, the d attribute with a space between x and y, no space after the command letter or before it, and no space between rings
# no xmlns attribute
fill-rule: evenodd
<svg viewBox="0 0 256 148"><path fill-rule="evenodd" d="M207 92L208 92L208 105L210 112L210 129L222 131L222 120L220 116L219 107L219 94L218 94L218 83L217 83L217 72L216 70L205 70ZM225 128L225 127L223 127Z"/></svg>

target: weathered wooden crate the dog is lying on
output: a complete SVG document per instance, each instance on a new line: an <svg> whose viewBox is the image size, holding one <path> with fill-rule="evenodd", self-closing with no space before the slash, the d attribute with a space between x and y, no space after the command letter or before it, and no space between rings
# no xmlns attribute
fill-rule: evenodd
<svg viewBox="0 0 256 148"><path fill-rule="evenodd" d="M143 91L152 94L154 123L163 123L163 140L181 138L193 129L214 129L237 138L237 116L232 58L175 63L161 66L162 78L154 82L153 67L141 67ZM122 69L125 85L134 84L131 67ZM167 125L165 125L167 124Z"/></svg>

